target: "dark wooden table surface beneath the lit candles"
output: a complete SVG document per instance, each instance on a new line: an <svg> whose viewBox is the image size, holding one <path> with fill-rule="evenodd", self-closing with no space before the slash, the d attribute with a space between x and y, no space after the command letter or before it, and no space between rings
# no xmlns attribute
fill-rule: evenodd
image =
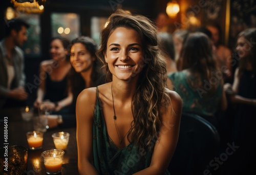
<svg viewBox="0 0 256 175"><path fill-rule="evenodd" d="M8 117L8 143L11 145L21 145L29 148L27 143L26 133L34 130L32 121L23 121L18 109L11 109L7 115ZM2 118L1 118L2 119ZM2 119L3 120L3 119ZM0 121L0 126L3 127L3 121ZM1 129L2 132L2 129ZM76 128L52 128L44 133L44 141L42 149L28 150L27 172L25 174L46 174L44 162L41 158L41 153L45 150L54 149L52 134L56 132L68 132L70 134L69 144L65 150L61 173L59 174L79 174L77 169L77 144L76 144ZM0 133L0 140L4 138L4 133ZM4 147L4 142L0 143L0 147ZM2 167L1 167L2 168ZM2 174L0 172L0 174Z"/></svg>

